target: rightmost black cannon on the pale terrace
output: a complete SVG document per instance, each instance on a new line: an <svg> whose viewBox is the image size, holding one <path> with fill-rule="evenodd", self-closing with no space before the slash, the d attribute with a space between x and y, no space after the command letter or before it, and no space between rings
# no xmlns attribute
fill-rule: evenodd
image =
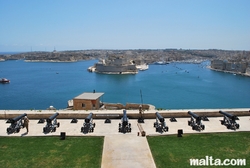
<svg viewBox="0 0 250 168"><path fill-rule="evenodd" d="M219 113L223 114L223 120L221 120L221 125L227 126L227 129L239 129L240 125L235 121L239 120L239 118L236 115L224 112L224 111L219 111Z"/></svg>

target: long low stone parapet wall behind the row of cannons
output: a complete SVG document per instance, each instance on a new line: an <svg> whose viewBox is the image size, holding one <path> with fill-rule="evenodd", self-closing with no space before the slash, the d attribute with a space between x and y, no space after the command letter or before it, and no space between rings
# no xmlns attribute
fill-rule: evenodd
<svg viewBox="0 0 250 168"><path fill-rule="evenodd" d="M195 110L165 110L158 111L164 118L183 118L190 117L187 113L188 111L192 111L200 116L207 117L220 117L223 116L219 113L219 111L225 111L237 116L250 116L250 108L249 109L195 109ZM145 119L153 119L155 118L155 112L157 110L149 110L145 111L143 117ZM41 119L48 118L55 112L59 113L58 119L84 119L88 116L90 112L92 112L94 119L120 119L123 115L123 110L43 110L43 111L35 111L35 110L0 110L0 119L9 119L14 118L18 115L26 113L28 118L30 119ZM140 117L138 110L127 110L127 116L130 119L138 119Z"/></svg>

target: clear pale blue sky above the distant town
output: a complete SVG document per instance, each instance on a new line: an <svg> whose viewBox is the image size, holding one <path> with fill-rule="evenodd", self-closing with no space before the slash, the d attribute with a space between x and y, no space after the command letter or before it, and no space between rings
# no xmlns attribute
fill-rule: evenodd
<svg viewBox="0 0 250 168"><path fill-rule="evenodd" d="M250 50L249 0L0 0L0 52Z"/></svg>

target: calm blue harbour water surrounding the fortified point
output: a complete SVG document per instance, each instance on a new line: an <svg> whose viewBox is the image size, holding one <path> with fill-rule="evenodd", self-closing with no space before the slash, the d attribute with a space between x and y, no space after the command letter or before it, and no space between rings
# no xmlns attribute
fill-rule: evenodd
<svg viewBox="0 0 250 168"><path fill-rule="evenodd" d="M249 108L250 77L215 72L202 64L150 65L136 75L87 71L97 60L73 63L0 62L0 109L57 109L83 92L105 92L103 102L149 103L165 109ZM142 93L142 99L141 94Z"/></svg>

